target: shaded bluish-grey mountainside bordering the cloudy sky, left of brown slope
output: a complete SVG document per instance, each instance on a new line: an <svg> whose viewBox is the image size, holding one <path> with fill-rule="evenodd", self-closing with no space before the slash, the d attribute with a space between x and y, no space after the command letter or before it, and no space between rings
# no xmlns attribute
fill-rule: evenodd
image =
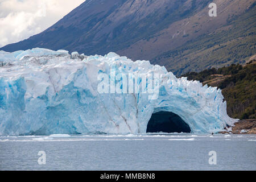
<svg viewBox="0 0 256 182"><path fill-rule="evenodd" d="M205 0L204 0L205 1ZM41 34L1 49L33 47L102 54L118 51L181 19L195 1L88 0Z"/></svg>

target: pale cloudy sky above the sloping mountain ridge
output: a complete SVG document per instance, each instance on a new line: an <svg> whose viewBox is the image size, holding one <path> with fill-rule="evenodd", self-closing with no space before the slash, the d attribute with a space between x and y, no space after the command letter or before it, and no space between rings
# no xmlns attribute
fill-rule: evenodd
<svg viewBox="0 0 256 182"><path fill-rule="evenodd" d="M0 0L0 47L52 26L85 0Z"/></svg>

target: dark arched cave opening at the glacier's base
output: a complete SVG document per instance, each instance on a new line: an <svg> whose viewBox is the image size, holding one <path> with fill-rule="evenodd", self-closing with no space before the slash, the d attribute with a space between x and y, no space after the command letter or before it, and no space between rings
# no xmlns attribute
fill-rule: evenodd
<svg viewBox="0 0 256 182"><path fill-rule="evenodd" d="M147 124L147 133L191 133L191 129L179 115L160 111L152 114Z"/></svg>

